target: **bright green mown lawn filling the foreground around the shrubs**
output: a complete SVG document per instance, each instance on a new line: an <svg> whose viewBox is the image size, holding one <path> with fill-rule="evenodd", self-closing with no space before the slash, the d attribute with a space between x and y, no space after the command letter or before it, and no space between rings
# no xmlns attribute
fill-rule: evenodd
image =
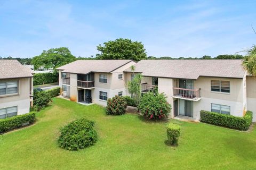
<svg viewBox="0 0 256 170"><path fill-rule="evenodd" d="M99 140L80 151L60 149L59 128L80 117L96 121ZM176 122L182 127L179 146L170 147L166 122L109 116L98 105L54 98L35 125L0 135L0 169L255 169L255 130Z"/></svg>

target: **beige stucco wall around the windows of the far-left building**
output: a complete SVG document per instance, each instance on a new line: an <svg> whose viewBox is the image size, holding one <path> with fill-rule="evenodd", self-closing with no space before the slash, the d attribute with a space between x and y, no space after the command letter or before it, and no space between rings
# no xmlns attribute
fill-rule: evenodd
<svg viewBox="0 0 256 170"><path fill-rule="evenodd" d="M19 81L18 95L0 96L0 109L18 106L18 115L29 113L30 101L33 101L30 99L30 78L4 79L0 81Z"/></svg>

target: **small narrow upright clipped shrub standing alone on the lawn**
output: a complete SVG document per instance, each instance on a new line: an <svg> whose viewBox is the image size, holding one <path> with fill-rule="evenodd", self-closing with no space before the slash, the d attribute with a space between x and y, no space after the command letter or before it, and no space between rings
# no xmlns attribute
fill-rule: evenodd
<svg viewBox="0 0 256 170"><path fill-rule="evenodd" d="M167 139L171 145L175 145L178 142L178 137L180 136L180 125L169 123L166 126Z"/></svg>

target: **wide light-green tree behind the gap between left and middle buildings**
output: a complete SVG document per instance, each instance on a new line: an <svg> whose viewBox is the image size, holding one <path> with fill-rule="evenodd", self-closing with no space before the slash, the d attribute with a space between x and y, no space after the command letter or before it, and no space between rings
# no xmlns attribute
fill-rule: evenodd
<svg viewBox="0 0 256 170"><path fill-rule="evenodd" d="M70 53L70 50L66 47L51 48L49 50L43 50L41 55L33 57L32 63L35 69L40 66L46 68L57 68L59 66L71 63L76 60L76 57Z"/></svg>

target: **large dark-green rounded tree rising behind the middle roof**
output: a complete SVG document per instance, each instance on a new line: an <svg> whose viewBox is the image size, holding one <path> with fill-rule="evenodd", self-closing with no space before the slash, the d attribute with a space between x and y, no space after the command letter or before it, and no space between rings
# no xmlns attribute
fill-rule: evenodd
<svg viewBox="0 0 256 170"><path fill-rule="evenodd" d="M103 43L97 46L100 54L96 54L99 60L135 60L147 59L145 48L141 42L119 38L115 41Z"/></svg>

